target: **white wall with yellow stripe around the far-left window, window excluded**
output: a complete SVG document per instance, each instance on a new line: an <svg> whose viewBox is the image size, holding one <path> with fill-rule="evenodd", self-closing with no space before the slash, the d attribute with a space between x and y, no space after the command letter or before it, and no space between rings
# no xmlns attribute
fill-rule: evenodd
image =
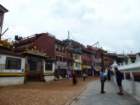
<svg viewBox="0 0 140 105"><path fill-rule="evenodd" d="M19 70L5 69L6 57L21 59L21 69L19 69ZM17 85L17 84L24 83L24 77L23 76L18 77L18 75L19 75L18 73L21 73L21 74L24 73L25 58L0 54L0 65L1 65L1 67L0 67L0 75L1 75L0 76L0 86ZM9 75L10 75L10 77L9 77Z"/></svg>

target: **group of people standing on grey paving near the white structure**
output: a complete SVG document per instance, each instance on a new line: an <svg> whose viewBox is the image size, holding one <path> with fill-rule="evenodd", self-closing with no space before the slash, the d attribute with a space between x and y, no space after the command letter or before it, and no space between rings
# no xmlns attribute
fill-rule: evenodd
<svg viewBox="0 0 140 105"><path fill-rule="evenodd" d="M114 67L114 72L111 69L107 70L107 72L104 69L101 69L100 71L101 94L105 93L104 91L105 81L107 79L111 80L112 75L116 76L116 82L119 87L118 95L123 95L123 88L122 88L123 73L121 73L117 67Z"/></svg>

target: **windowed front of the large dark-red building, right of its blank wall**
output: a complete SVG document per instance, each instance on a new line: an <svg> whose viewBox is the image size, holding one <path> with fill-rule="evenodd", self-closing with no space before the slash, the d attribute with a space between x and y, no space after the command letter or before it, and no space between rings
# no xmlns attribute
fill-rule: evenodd
<svg viewBox="0 0 140 105"><path fill-rule="evenodd" d="M64 42L56 39L55 42L55 64L56 70L61 77L66 77L72 68L72 53L69 46Z"/></svg>

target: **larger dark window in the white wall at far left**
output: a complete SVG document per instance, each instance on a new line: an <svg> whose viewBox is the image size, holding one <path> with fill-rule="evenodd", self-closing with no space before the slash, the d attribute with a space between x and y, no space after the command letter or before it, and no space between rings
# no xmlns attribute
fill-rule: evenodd
<svg viewBox="0 0 140 105"><path fill-rule="evenodd" d="M10 69L14 69L14 70L21 69L21 59L7 57L6 58L5 69L9 69L9 70Z"/></svg>

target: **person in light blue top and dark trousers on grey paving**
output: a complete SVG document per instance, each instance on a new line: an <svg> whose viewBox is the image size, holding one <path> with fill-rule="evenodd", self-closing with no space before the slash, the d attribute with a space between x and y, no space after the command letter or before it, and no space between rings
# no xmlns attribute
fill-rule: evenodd
<svg viewBox="0 0 140 105"><path fill-rule="evenodd" d="M101 94L104 94L104 85L105 85L105 80L106 80L106 73L103 69L100 71L100 81L101 81Z"/></svg>

